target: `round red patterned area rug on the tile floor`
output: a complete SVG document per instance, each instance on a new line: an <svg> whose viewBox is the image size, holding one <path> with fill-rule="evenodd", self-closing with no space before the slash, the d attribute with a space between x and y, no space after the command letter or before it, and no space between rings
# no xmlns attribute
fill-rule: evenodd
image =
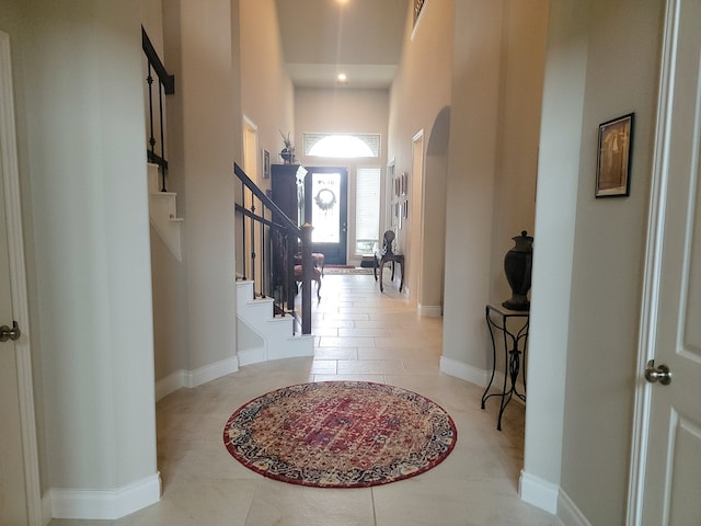
<svg viewBox="0 0 701 526"><path fill-rule="evenodd" d="M223 430L229 453L271 479L367 488L437 466L456 445L452 419L399 387L322 381L286 387L239 408Z"/></svg>

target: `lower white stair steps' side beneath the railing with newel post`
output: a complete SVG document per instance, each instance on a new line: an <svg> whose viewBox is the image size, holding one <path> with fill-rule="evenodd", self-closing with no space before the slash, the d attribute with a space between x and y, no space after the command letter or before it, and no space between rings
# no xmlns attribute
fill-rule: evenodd
<svg viewBox="0 0 701 526"><path fill-rule="evenodd" d="M255 298L253 282L237 282L239 365L313 356L313 334L294 334L291 316L274 316L273 298Z"/></svg>

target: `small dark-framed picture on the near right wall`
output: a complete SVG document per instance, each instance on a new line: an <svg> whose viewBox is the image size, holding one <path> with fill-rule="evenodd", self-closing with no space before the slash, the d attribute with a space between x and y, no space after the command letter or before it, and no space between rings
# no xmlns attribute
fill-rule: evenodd
<svg viewBox="0 0 701 526"><path fill-rule="evenodd" d="M631 113L599 125L596 197L630 195L633 116Z"/></svg>

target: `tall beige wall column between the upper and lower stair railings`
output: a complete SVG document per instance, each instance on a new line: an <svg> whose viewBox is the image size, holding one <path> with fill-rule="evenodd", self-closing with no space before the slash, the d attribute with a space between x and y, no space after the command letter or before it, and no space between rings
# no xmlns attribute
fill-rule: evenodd
<svg viewBox="0 0 701 526"><path fill-rule="evenodd" d="M185 310L170 321L186 341L182 367L195 377L212 364L235 370L232 171L241 153L233 56L238 26L232 24L237 8L230 0L164 2L165 56L176 79L168 115L170 174L184 217L186 273L184 283L172 284L180 290L165 294L185 301ZM175 327L183 315L185 327Z"/></svg>

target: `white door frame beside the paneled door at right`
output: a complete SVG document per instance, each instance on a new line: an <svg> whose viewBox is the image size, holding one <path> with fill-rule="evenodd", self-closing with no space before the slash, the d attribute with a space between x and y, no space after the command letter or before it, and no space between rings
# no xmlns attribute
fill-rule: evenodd
<svg viewBox="0 0 701 526"><path fill-rule="evenodd" d="M667 0L665 7L665 25L657 101L657 121L655 123L655 146L653 152L653 170L647 219L647 239L643 270L643 290L641 321L639 330L639 350L636 364L636 382L633 437L631 447L631 467L628 489L628 510L625 524L642 524L645 468L651 432L652 387L643 381L642 373L650 359L655 357L655 335L659 299L659 282L662 275L663 238L665 228L665 196L669 180L667 164L667 141L671 134L674 107L674 59L677 37L677 18L681 0Z"/></svg>

